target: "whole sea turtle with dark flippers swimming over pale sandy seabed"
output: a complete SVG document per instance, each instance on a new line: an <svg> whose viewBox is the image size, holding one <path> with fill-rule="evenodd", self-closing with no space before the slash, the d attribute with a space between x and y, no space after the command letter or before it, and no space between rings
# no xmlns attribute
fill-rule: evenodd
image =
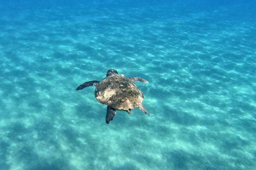
<svg viewBox="0 0 256 170"><path fill-rule="evenodd" d="M147 80L139 77L125 77L118 75L116 70L108 70L106 78L102 81L88 81L77 87L76 90L82 90L85 87L96 86L94 95L98 102L108 105L106 123L116 116L116 110L126 111L131 114L131 110L139 108L148 116L149 113L142 105L144 95L142 91L133 83L140 81L148 83Z"/></svg>

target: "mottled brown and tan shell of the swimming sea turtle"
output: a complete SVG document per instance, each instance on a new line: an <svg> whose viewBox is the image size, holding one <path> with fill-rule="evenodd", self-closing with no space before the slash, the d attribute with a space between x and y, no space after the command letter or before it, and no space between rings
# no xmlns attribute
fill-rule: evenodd
<svg viewBox="0 0 256 170"><path fill-rule="evenodd" d="M104 78L94 95L100 103L118 110L139 107L144 99L142 91L130 79L118 74Z"/></svg>

